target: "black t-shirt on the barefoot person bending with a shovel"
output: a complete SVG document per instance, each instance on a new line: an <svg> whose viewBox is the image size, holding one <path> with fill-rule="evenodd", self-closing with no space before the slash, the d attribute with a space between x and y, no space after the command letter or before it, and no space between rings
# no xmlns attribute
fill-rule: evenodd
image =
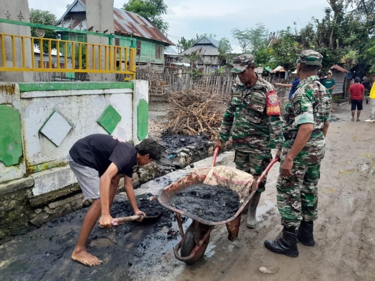
<svg viewBox="0 0 375 281"><path fill-rule="evenodd" d="M94 134L84 137L73 144L70 157L78 164L93 168L102 176L113 162L118 174L133 176L133 167L137 164L137 150L131 144L116 137Z"/></svg>

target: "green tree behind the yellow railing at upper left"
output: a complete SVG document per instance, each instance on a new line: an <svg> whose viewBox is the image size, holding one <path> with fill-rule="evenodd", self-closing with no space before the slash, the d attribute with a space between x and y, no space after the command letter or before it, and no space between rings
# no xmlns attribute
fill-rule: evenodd
<svg viewBox="0 0 375 281"><path fill-rule="evenodd" d="M30 9L30 22L46 24L46 25L55 25L56 16L49 11ZM37 29L38 28L36 27L31 27L31 36L39 37L37 35ZM59 35L52 29L43 29L43 31L44 31L44 38L59 39ZM35 41L35 45L37 45L38 49L40 49L39 41ZM51 47L56 48L56 43L52 42ZM47 51L48 51L48 42L45 41L43 42L43 52L47 52Z"/></svg>

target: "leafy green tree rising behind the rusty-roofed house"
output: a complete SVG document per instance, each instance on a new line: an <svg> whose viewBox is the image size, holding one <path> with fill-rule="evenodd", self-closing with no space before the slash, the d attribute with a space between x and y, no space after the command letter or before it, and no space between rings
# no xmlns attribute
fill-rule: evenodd
<svg viewBox="0 0 375 281"><path fill-rule="evenodd" d="M129 0L124 3L122 9L151 20L162 33L166 34L169 24L162 15L167 14L167 8L164 0Z"/></svg>

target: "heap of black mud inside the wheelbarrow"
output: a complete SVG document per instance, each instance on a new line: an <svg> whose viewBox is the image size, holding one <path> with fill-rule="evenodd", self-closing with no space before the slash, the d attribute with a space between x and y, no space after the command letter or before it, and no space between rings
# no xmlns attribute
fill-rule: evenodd
<svg viewBox="0 0 375 281"><path fill-rule="evenodd" d="M170 203L208 221L225 221L240 208L237 193L225 186L193 184L177 193Z"/></svg>

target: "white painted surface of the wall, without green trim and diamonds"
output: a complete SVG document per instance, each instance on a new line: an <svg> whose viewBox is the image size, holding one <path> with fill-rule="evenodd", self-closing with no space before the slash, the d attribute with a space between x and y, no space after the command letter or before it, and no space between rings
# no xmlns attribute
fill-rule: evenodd
<svg viewBox="0 0 375 281"><path fill-rule="evenodd" d="M19 165L5 167L0 162L0 182L25 176L26 166L65 160L75 141L94 133L107 132L97 120L111 104L122 119L112 135L139 143L137 137L137 106L141 99L148 102L148 81L134 80L133 89L29 91L20 93L17 83L0 83L0 104L11 104L20 111L23 156ZM58 111L72 129L57 147L39 130L52 112ZM68 166L53 168L31 175L38 196L76 182Z"/></svg>

